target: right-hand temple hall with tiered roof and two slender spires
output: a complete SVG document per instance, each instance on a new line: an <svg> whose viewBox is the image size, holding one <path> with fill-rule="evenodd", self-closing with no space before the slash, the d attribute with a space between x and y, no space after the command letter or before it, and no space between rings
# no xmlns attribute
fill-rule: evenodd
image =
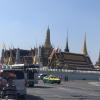
<svg viewBox="0 0 100 100"><path fill-rule="evenodd" d="M92 70L94 66L87 52L86 36L83 45L83 54L71 53L68 47L68 39L66 42L65 51L61 52L59 49L53 49L49 56L48 66L50 68L65 68L65 69L79 69Z"/></svg>

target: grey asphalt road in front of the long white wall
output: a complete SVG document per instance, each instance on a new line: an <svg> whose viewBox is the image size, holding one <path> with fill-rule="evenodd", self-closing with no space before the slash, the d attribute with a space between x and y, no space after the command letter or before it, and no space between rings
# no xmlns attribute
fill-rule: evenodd
<svg viewBox="0 0 100 100"><path fill-rule="evenodd" d="M27 100L100 100L100 82L68 81L27 88Z"/></svg>

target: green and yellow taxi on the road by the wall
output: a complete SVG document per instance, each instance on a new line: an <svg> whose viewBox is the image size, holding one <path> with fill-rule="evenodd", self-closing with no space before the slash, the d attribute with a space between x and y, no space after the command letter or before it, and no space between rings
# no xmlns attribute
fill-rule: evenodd
<svg viewBox="0 0 100 100"><path fill-rule="evenodd" d="M61 83L61 79L57 76L54 76L54 75L49 75L49 76L45 76L43 78L43 82L44 83L57 83L57 84L60 84Z"/></svg>

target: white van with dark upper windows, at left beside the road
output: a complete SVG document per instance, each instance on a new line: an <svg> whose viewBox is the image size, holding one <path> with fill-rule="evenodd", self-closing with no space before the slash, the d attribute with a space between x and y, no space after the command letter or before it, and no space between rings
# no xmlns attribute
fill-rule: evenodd
<svg viewBox="0 0 100 100"><path fill-rule="evenodd" d="M16 86L17 95L25 97L26 95L26 80L24 71L22 69L6 69L3 70L4 74L13 73L16 77L13 79L13 82Z"/></svg>

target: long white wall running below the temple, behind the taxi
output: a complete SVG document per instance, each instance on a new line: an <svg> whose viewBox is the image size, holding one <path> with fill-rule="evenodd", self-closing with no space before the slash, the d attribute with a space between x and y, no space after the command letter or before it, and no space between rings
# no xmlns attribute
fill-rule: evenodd
<svg viewBox="0 0 100 100"><path fill-rule="evenodd" d="M100 71L98 71L96 73L96 71L71 71L71 70L66 70L66 72L64 71L60 71L60 70L40 70L40 73L47 73L47 74L53 74L53 75L57 75L60 78L62 78L63 80L100 80Z"/></svg>

